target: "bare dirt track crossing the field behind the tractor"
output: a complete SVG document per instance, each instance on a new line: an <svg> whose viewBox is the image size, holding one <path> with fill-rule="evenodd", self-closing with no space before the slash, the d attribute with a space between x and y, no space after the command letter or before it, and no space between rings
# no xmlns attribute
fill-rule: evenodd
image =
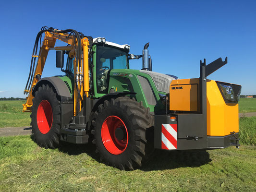
<svg viewBox="0 0 256 192"><path fill-rule="evenodd" d="M256 112L251 113L239 113L239 117L252 117L256 116ZM1 136L15 136L15 135L30 135L32 127L4 127L0 128L0 137Z"/></svg>

